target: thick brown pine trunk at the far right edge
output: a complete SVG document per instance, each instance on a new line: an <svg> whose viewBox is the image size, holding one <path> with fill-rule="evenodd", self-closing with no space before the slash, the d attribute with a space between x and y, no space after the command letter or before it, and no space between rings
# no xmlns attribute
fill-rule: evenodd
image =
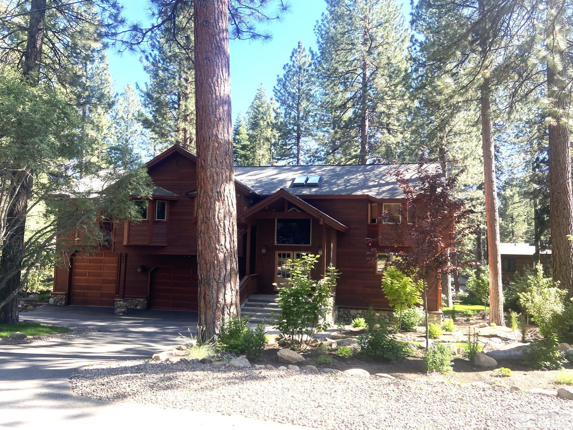
<svg viewBox="0 0 573 430"><path fill-rule="evenodd" d="M547 65L547 93L552 101L552 111L567 115L568 92L566 53L555 40L559 26L563 25L563 0L548 0L548 9L560 11L550 26L548 51L552 64ZM555 41L555 43L554 43ZM551 118L549 126L549 191L551 253L553 279L573 297L573 242L567 239L573 234L573 194L571 191L571 148L569 127L560 114Z"/></svg>

